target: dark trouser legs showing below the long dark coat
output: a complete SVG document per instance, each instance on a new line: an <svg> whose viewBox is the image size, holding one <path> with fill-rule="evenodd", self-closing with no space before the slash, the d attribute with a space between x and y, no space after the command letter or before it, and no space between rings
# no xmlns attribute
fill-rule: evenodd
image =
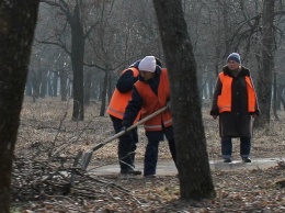
<svg viewBox="0 0 285 213"><path fill-rule="evenodd" d="M223 158L230 158L232 154L232 137L221 137ZM240 157L250 157L251 137L240 137Z"/></svg>

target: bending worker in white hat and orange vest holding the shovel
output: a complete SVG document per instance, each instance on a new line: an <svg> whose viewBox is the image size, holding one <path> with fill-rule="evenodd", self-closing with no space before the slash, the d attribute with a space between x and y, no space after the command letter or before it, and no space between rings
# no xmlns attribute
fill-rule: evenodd
<svg viewBox="0 0 285 213"><path fill-rule="evenodd" d="M167 69L156 65L153 56L146 56L138 65L138 81L134 85L132 99L126 108L123 123L124 128L129 127L137 114L141 119L166 107L170 100L169 78ZM141 110L141 111L140 111ZM175 162L175 143L170 109L144 123L148 144L145 153L144 176L156 177L159 142L166 135L170 153Z"/></svg>

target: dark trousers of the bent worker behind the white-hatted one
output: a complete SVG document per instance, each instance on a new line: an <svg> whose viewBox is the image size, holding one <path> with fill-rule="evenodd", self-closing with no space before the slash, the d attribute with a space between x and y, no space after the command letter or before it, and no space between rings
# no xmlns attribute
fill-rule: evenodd
<svg viewBox="0 0 285 213"><path fill-rule="evenodd" d="M113 126L115 130L115 133L118 133L122 131L122 120L110 116ZM119 167L121 170L128 170L129 168L134 168L135 165L135 152L137 148L138 143L138 134L137 134L137 128L133 128L129 133L121 136L118 138L118 145L117 145L117 156L118 156L118 161L119 161Z"/></svg>

